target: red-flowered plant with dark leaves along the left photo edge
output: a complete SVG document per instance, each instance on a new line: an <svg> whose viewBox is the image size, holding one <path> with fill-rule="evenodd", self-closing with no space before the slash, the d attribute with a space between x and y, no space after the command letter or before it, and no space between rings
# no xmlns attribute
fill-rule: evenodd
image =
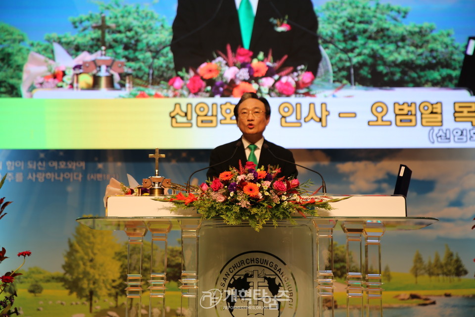
<svg viewBox="0 0 475 317"><path fill-rule="evenodd" d="M3 176L3 178L0 181L0 188L3 186L3 183L5 182L6 174ZM5 202L5 197L0 199L0 219L3 218L3 216L6 215L6 212L4 212L6 206L10 205L12 202ZM3 262L3 260L8 259L8 257L5 256L6 250L5 248L1 248L0 251L0 263ZM19 315L19 312L17 308L13 308L13 303L15 301L16 292L12 288L13 282L15 280L15 276L21 275L21 273L18 273L17 271L25 264L26 257L31 256L31 251L23 251L18 253L18 257L23 257L23 263L18 266L15 270L13 271L8 271L5 274L1 275L0 277L0 294L3 293L3 291L9 293L10 295L7 296L5 295L3 301L0 301L0 317L6 317L6 316L11 316L13 314Z"/></svg>

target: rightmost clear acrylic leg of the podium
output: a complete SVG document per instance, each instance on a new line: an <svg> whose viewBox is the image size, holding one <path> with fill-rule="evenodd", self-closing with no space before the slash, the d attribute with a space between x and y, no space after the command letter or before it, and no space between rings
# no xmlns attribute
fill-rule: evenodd
<svg viewBox="0 0 475 317"><path fill-rule="evenodd" d="M381 237L384 234L382 221L366 221L366 316L382 317Z"/></svg>

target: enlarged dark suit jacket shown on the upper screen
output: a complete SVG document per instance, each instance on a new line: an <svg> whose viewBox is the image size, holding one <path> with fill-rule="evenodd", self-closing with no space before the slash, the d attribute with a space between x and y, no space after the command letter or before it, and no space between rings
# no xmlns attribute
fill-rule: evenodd
<svg viewBox="0 0 475 317"><path fill-rule="evenodd" d="M216 16L213 18L222 1ZM259 0L249 50L256 56L265 55L272 49L274 61L288 55L284 66L307 65L307 70L317 73L322 58L318 38L318 20L311 0L272 0L277 12L269 0ZM298 23L310 32L296 26L290 31L277 32L270 18L279 18L280 14ZM206 22L209 21L208 24ZM200 26L202 29L193 33ZM217 50L226 53L226 44L233 52L242 47L239 29L238 11L234 0L178 0L177 15L173 22L173 41L171 46L175 69L197 68L206 61L214 59Z"/></svg>

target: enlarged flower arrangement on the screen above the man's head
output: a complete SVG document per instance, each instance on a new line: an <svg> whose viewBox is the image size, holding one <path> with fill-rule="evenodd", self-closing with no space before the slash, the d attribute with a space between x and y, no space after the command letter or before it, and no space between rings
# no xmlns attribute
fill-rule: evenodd
<svg viewBox="0 0 475 317"><path fill-rule="evenodd" d="M277 22L276 22L277 23ZM280 26L282 27L282 25ZM273 61L272 50L265 56L238 48L236 53L227 45L227 52L217 51L217 57L202 63L196 70L178 72L178 76L158 87L134 88L126 97L235 97L245 92L265 97L314 96L310 85L315 80L305 66L283 67L287 56Z"/></svg>

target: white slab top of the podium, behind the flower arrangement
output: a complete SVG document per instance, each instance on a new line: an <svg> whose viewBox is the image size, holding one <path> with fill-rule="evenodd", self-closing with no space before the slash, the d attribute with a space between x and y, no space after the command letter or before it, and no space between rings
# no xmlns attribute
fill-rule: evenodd
<svg viewBox="0 0 475 317"><path fill-rule="evenodd" d="M348 195L328 195L343 198ZM171 211L173 204L157 202L151 196L117 195L107 198L107 217L174 217L196 216L192 209ZM350 199L330 203L331 211L322 210L326 217L405 217L406 197L403 195L351 195ZM298 215L297 215L298 216Z"/></svg>

